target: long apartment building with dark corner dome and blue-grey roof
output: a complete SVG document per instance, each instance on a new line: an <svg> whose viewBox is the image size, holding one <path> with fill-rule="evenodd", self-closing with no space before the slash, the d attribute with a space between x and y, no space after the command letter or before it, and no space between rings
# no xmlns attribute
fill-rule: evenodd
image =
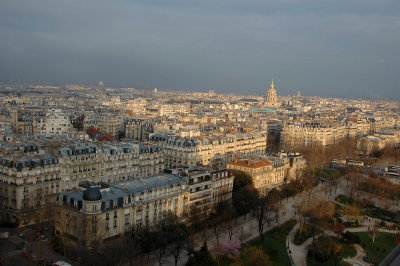
<svg viewBox="0 0 400 266"><path fill-rule="evenodd" d="M171 212L182 216L188 184L180 176L161 174L59 194L56 234L90 245L142 226L152 226Z"/></svg>

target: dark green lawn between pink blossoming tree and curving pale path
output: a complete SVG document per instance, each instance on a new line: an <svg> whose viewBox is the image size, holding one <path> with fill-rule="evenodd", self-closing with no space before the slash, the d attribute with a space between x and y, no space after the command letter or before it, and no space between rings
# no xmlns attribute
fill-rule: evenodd
<svg viewBox="0 0 400 266"><path fill-rule="evenodd" d="M265 233L264 242L261 242L260 239L251 241L250 243L244 245L241 250L247 246L257 246L269 256L269 260L272 265L291 265L290 259L286 252L286 236L289 234L290 230L292 230L295 224L295 220L289 220L281 226L275 227L271 231ZM243 261L246 261L246 258L243 258ZM221 258L219 261L219 265L224 266L230 265L231 263L232 260L227 258Z"/></svg>

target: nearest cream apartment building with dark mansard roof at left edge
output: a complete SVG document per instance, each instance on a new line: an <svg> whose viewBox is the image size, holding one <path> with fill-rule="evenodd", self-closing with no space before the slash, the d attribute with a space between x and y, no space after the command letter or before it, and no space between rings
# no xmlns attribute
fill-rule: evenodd
<svg viewBox="0 0 400 266"><path fill-rule="evenodd" d="M0 221L28 223L27 211L45 206L62 190L57 157L0 155Z"/></svg>

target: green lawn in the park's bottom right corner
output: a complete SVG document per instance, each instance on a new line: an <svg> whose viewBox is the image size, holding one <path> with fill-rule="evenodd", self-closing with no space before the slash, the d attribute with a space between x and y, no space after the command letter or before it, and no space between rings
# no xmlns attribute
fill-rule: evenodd
<svg viewBox="0 0 400 266"><path fill-rule="evenodd" d="M372 243L372 238L368 232L355 233L360 237L360 246L367 252L368 259L378 265L397 245L394 241L396 234L378 233L375 238L375 243Z"/></svg>

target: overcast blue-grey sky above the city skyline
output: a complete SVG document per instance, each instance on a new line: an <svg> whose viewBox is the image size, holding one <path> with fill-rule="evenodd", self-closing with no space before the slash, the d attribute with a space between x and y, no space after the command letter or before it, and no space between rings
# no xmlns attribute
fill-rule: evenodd
<svg viewBox="0 0 400 266"><path fill-rule="evenodd" d="M399 0L2 0L0 80L400 99Z"/></svg>

